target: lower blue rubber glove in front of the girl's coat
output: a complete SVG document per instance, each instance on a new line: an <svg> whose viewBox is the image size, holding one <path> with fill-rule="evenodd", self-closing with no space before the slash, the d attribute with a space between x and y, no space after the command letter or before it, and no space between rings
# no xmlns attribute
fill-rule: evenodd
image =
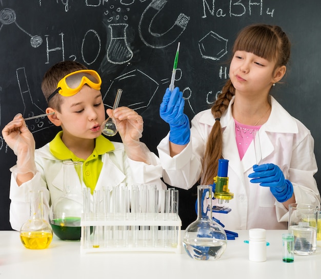
<svg viewBox="0 0 321 279"><path fill-rule="evenodd" d="M285 179L282 170L274 164L253 166L254 173L249 174L250 182L270 187L270 191L278 202L285 202L293 195L292 183Z"/></svg>

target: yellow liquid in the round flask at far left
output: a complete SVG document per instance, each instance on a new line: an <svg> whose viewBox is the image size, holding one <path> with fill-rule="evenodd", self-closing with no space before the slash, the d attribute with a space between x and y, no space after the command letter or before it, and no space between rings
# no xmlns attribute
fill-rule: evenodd
<svg viewBox="0 0 321 279"><path fill-rule="evenodd" d="M42 231L22 232L20 239L28 249L45 249L51 243L52 233Z"/></svg>

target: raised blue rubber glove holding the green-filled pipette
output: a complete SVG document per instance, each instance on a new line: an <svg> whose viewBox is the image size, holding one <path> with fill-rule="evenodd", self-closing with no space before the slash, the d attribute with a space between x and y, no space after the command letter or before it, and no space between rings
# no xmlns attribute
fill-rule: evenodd
<svg viewBox="0 0 321 279"><path fill-rule="evenodd" d="M173 92L166 89L163 102L159 107L160 117L169 124L169 140L172 143L185 145L190 141L190 122L184 114L185 100L183 93L176 87Z"/></svg>

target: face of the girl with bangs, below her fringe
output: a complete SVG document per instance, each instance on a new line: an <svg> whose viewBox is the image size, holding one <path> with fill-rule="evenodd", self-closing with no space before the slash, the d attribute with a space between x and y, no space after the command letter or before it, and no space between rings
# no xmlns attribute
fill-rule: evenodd
<svg viewBox="0 0 321 279"><path fill-rule="evenodd" d="M251 52L236 51L230 65L230 79L235 93L267 95L272 84L280 79L275 79L274 73L277 71L274 71L274 68L274 61L268 61Z"/></svg>

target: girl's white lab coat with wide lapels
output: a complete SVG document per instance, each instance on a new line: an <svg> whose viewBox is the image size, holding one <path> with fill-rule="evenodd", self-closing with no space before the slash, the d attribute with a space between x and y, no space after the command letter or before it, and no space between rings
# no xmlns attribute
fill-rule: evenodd
<svg viewBox="0 0 321 279"><path fill-rule="evenodd" d="M235 122L228 110L220 118L223 128L223 158L229 160L229 190L234 199L223 203L232 210L228 214L215 213L226 229L287 229L288 210L271 194L269 187L250 183L248 175L256 164L254 143L250 144L242 161L235 140ZM310 131L293 118L271 96L272 110L268 121L258 132L262 163L273 163L282 169L293 184L297 203L320 206L320 194L313 175L317 171L313 152L314 140ZM163 178L169 185L189 189L200 178L206 142L214 117L210 110L198 113L191 121L191 139L186 148L173 158L169 153L169 135L157 146L164 168ZM217 204L217 200L213 201ZM191 204L191 206L194 206Z"/></svg>

